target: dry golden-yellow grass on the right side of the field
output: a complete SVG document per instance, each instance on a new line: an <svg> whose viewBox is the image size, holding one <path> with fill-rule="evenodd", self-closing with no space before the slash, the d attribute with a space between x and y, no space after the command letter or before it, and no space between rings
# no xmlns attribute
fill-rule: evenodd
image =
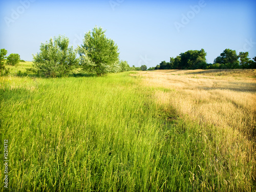
<svg viewBox="0 0 256 192"><path fill-rule="evenodd" d="M139 72L155 100L182 117L255 139L256 70L157 70ZM167 91L166 91L167 90Z"/></svg>

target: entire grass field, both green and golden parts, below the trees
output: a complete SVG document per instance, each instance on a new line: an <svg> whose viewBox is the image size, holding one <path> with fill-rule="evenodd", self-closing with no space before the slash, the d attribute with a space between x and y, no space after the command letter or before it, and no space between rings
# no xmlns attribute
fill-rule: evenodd
<svg viewBox="0 0 256 192"><path fill-rule="evenodd" d="M0 77L8 191L255 191L256 70L24 68Z"/></svg>

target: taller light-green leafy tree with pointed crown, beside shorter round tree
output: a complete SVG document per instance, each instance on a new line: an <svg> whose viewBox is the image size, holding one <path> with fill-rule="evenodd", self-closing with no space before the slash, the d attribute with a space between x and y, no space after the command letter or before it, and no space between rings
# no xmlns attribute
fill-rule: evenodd
<svg viewBox="0 0 256 192"><path fill-rule="evenodd" d="M105 36L97 26L84 35L83 45L78 46L80 65L84 71L98 76L113 72L119 61L118 47L114 40Z"/></svg>

